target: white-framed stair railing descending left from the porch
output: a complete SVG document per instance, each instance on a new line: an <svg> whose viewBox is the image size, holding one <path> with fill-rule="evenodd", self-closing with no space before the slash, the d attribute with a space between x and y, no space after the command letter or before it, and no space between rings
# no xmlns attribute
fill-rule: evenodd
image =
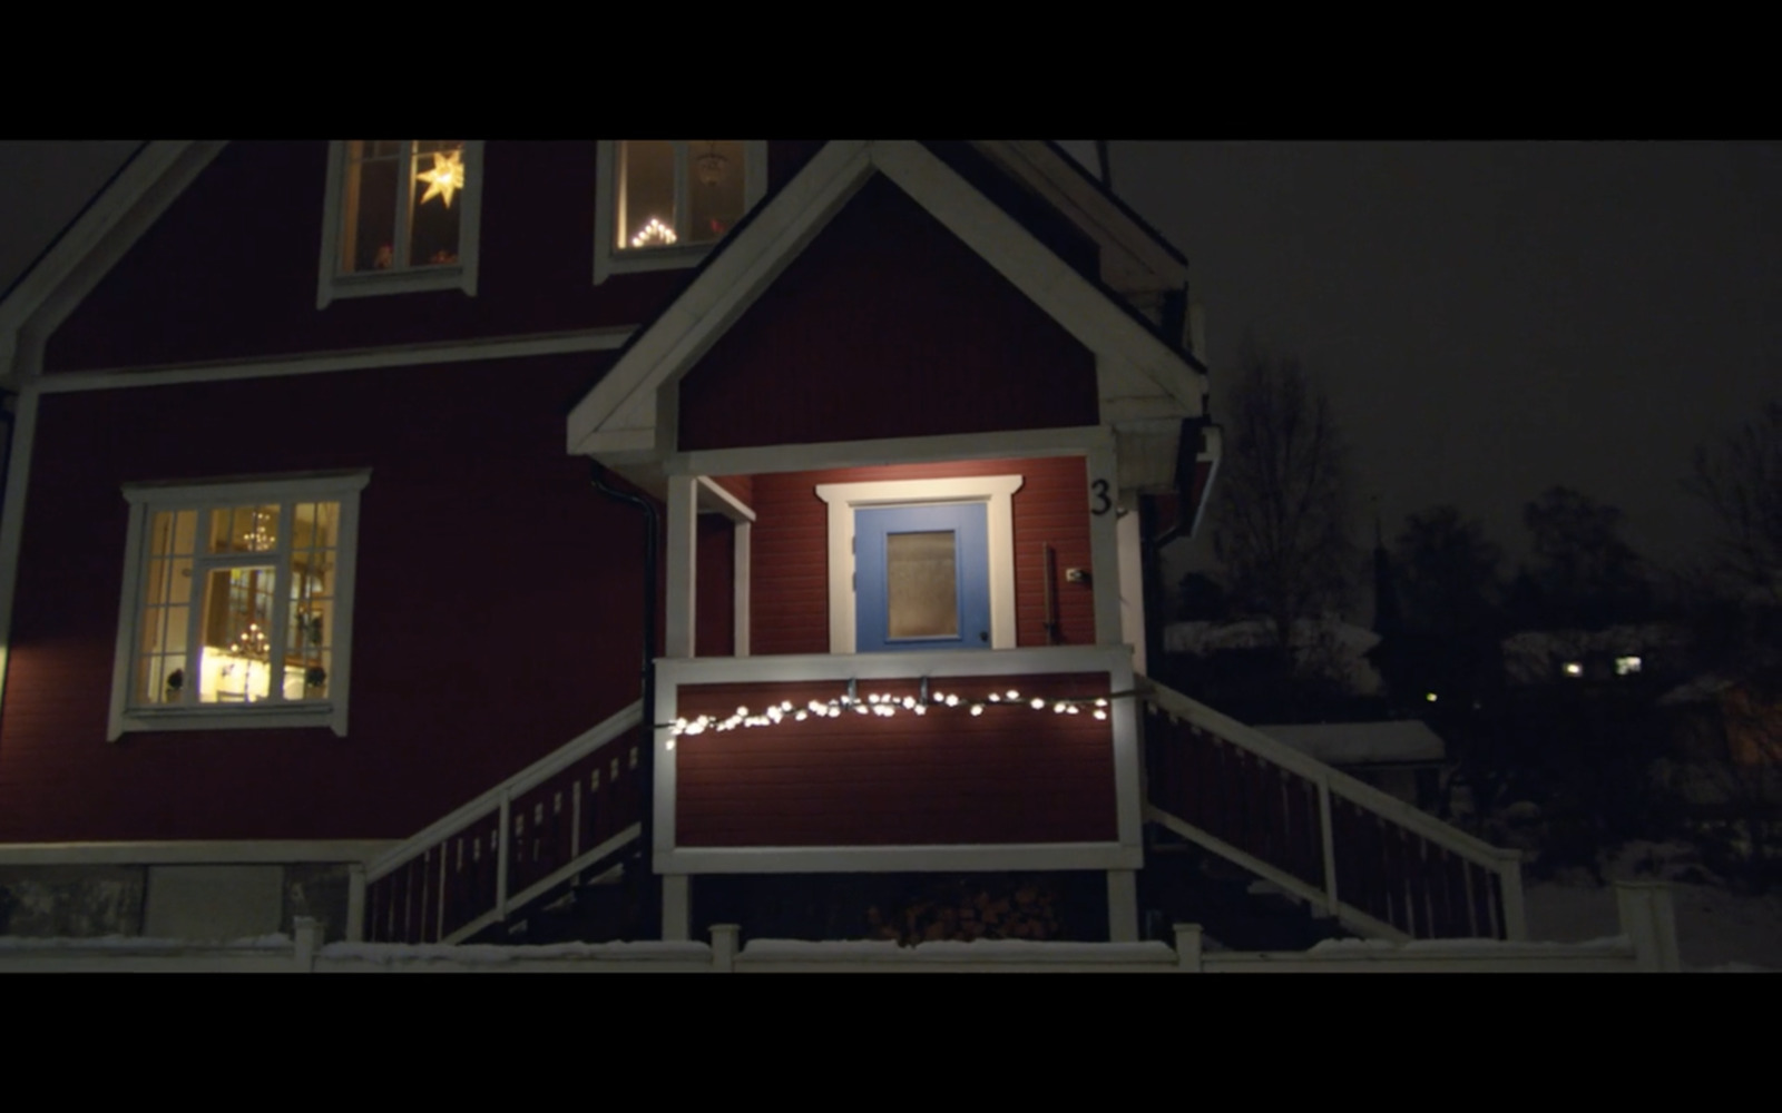
<svg viewBox="0 0 1782 1113"><path fill-rule="evenodd" d="M460 942L638 837L633 703L365 867L367 942Z"/></svg>

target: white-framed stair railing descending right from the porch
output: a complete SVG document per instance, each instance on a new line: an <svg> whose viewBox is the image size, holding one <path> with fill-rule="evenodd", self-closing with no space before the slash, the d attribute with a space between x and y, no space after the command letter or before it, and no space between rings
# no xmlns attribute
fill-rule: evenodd
<svg viewBox="0 0 1782 1113"><path fill-rule="evenodd" d="M1365 935L1527 938L1516 851L1149 684L1146 817Z"/></svg>

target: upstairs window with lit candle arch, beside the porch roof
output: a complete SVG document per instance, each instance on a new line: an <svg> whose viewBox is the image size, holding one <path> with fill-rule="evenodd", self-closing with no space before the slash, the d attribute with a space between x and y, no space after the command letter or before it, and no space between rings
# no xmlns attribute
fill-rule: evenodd
<svg viewBox="0 0 1782 1113"><path fill-rule="evenodd" d="M699 262L766 187L761 139L606 139L599 160L595 281Z"/></svg>

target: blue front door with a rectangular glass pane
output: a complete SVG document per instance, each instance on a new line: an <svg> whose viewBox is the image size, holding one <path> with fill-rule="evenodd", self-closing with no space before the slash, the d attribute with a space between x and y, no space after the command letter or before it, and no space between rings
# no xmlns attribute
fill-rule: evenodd
<svg viewBox="0 0 1782 1113"><path fill-rule="evenodd" d="M989 508L854 513L855 648L991 648Z"/></svg>

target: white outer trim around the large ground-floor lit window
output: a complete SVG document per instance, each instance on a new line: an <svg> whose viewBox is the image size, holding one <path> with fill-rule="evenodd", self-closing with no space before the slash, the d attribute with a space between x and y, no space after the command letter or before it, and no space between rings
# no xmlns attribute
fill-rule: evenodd
<svg viewBox="0 0 1782 1113"><path fill-rule="evenodd" d="M353 677L353 581L358 563L358 493L371 472L246 479L203 484L130 484L130 534L125 543L123 593L118 602L118 646L112 661L110 723L107 741L143 730L242 730L262 727L328 727L346 737L347 686ZM303 703L269 702L251 707L130 707L130 675L135 668L135 627L143 613L143 545L150 515L157 509L200 509L244 502L340 502L340 540L335 547L335 645L328 673L328 700ZM192 600L192 605L200 605Z"/></svg>

